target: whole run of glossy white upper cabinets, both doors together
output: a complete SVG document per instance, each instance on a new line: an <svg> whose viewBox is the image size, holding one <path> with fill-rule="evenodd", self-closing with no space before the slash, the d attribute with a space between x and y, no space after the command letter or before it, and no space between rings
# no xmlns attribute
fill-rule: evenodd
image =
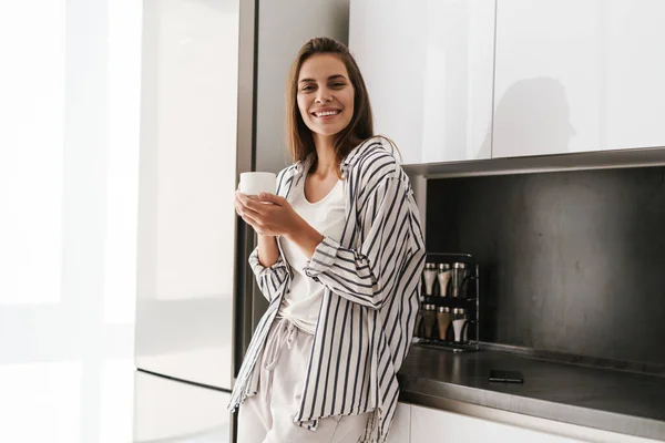
<svg viewBox="0 0 665 443"><path fill-rule="evenodd" d="M664 21L662 0L352 0L349 47L405 164L653 147Z"/></svg>

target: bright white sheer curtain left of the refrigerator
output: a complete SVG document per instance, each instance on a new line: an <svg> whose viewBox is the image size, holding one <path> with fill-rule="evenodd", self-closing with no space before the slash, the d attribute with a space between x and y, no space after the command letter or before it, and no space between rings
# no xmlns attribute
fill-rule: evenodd
<svg viewBox="0 0 665 443"><path fill-rule="evenodd" d="M0 3L1 442L131 441L141 24Z"/></svg>

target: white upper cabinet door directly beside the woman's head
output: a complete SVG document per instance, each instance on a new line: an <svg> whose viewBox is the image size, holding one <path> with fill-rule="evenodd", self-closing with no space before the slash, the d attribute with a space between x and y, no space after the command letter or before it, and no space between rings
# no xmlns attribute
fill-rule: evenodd
<svg viewBox="0 0 665 443"><path fill-rule="evenodd" d="M494 0L352 0L375 133L405 164L491 156Z"/></svg>

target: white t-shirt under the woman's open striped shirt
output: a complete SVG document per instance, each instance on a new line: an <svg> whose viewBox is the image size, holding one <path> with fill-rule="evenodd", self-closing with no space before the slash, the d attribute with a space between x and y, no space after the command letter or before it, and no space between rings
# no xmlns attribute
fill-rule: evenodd
<svg viewBox="0 0 665 443"><path fill-rule="evenodd" d="M291 200L291 206L300 217L321 235L328 236L336 241L341 238L345 225L345 181L338 181L328 195L316 203L309 203L305 198L304 186L300 186L297 195ZM307 264L307 256L298 245L279 237L279 244L286 261L290 265L294 278L290 289L284 295L279 306L278 317L287 318L298 329L314 334L316 322L324 295L324 286L314 281L304 274L303 268Z"/></svg>

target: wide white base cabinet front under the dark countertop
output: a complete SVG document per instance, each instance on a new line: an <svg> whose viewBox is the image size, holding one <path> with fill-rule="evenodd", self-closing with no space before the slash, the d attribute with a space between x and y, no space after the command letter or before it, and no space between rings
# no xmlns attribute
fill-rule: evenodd
<svg viewBox="0 0 665 443"><path fill-rule="evenodd" d="M560 435L528 430L489 420L411 406L410 443L447 442L511 442L511 443L574 443L582 442Z"/></svg>

